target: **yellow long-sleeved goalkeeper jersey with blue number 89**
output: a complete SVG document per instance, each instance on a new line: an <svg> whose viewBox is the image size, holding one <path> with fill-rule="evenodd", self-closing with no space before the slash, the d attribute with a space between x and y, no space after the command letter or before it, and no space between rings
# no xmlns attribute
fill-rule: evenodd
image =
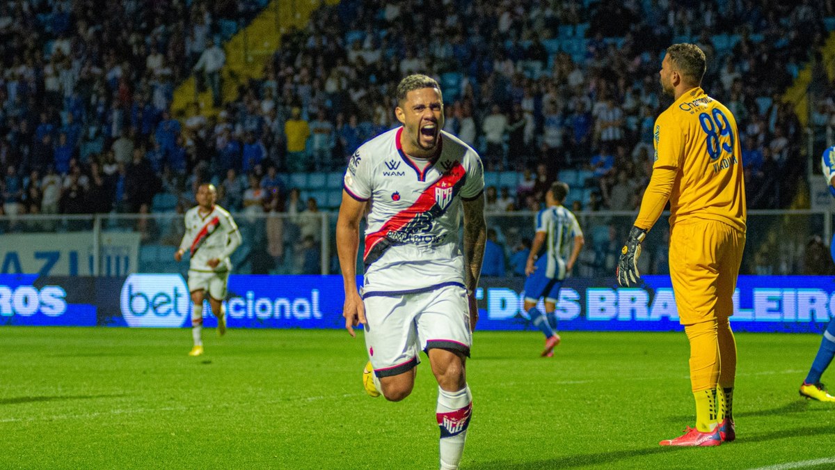
<svg viewBox="0 0 835 470"><path fill-rule="evenodd" d="M653 171L675 171L670 191L670 224L695 217L746 228L745 182L736 119L725 105L694 88L681 95L655 120ZM647 197L657 197L647 188ZM657 209L652 210L652 207ZM635 225L649 229L664 202L641 204ZM656 212L656 213L652 213Z"/></svg>

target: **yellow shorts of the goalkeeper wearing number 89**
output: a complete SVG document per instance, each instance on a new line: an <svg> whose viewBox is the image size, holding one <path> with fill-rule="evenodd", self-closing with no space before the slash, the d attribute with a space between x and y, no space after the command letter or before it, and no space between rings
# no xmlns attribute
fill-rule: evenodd
<svg viewBox="0 0 835 470"><path fill-rule="evenodd" d="M670 233L670 277L679 322L696 324L733 314L745 232L724 222L690 218Z"/></svg>

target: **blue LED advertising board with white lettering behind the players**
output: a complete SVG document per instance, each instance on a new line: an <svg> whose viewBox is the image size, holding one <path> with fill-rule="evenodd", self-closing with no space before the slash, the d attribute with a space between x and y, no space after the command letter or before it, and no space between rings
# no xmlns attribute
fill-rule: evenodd
<svg viewBox="0 0 835 470"><path fill-rule="evenodd" d="M614 278L567 279L557 305L559 330L682 330L670 278L644 280L640 288L623 289ZM523 278L484 278L481 285L477 330L531 329L522 310ZM343 300L341 276L233 274L226 312L230 328L339 329ZM736 331L821 332L835 312L835 278L741 276L734 306ZM0 324L188 327L189 290L180 274L0 275ZM205 326L214 325L206 308Z"/></svg>

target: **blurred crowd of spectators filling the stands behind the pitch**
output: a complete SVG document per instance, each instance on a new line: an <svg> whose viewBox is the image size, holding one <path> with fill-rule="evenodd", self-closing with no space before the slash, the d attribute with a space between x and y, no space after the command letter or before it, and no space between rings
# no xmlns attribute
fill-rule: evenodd
<svg viewBox="0 0 835 470"><path fill-rule="evenodd" d="M412 72L439 79L446 129L488 171L524 171L516 187L488 188L488 210L537 209L563 171L588 176L574 209L632 210L669 105L660 54L676 42L706 51L706 90L736 115L749 207L787 207L803 130L780 96L835 14L817 0L343 0L287 33L264 78L223 101L222 41L265 4L0 3L0 210L148 213L160 192L187 207L213 181L232 212L301 212L317 202L291 200L287 176L339 171L397 125L392 91ZM216 113L195 103L172 115L192 73Z"/></svg>

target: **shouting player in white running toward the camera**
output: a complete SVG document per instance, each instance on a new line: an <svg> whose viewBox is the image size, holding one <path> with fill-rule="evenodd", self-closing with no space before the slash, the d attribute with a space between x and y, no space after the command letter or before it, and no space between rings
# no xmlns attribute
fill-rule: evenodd
<svg viewBox="0 0 835 470"><path fill-rule="evenodd" d="M473 399L465 362L478 319L474 292L484 255L484 177L478 154L443 128L438 82L397 85L401 127L363 144L345 173L337 249L345 328L362 324L370 396L412 392L423 350L438 381L440 467L458 468ZM359 224L366 213L365 280L357 291ZM463 253L458 215L463 209Z"/></svg>

